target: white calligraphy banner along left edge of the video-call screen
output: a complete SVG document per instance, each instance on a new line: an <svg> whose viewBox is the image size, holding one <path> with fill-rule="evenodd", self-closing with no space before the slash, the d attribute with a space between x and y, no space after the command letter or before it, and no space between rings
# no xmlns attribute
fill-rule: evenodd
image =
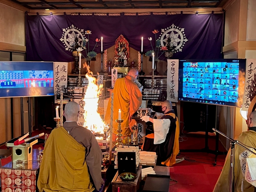
<svg viewBox="0 0 256 192"><path fill-rule="evenodd" d="M178 102L179 60L167 60L167 100Z"/></svg>

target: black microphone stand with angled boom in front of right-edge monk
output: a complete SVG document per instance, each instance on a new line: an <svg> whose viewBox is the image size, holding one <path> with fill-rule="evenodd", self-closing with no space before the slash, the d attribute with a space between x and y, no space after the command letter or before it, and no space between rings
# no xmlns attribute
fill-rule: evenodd
<svg viewBox="0 0 256 192"><path fill-rule="evenodd" d="M215 128L212 128L213 131L216 131L217 133L221 134L222 136L224 136L225 138L230 140L230 149L231 149L231 153L230 153L230 174L229 174L229 191L230 192L234 192L234 182L233 182L233 177L234 177L234 162L235 162L235 153L234 153L234 148L235 148L235 144L239 145L240 147L244 148L247 151L250 151L252 154L256 155L255 152L249 150L249 148L245 147L246 145L241 143L238 140L234 140L232 138L230 138L229 136L225 135L224 133L218 131ZM253 147L251 147L253 148ZM255 149L255 148L253 148ZM255 149L256 150L256 149Z"/></svg>

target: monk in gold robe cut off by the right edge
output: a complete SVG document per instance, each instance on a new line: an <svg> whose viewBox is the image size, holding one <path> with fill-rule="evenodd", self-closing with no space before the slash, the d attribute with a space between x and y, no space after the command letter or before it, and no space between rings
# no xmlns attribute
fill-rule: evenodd
<svg viewBox="0 0 256 192"><path fill-rule="evenodd" d="M248 131L242 132L235 140L240 141L241 143L245 144L249 148L256 148L256 111L253 111L249 119L247 120L248 124ZM233 186L234 192L253 192L254 187L253 185L249 184L245 181L245 178L242 175L242 168L239 160L239 155L245 149L240 147L239 145L235 144L234 148L234 177L233 177ZM230 175L230 149L227 153L227 157L225 160L225 164L221 171L221 175L218 178L218 181L214 187L213 192L224 192L229 191L229 177Z"/></svg>

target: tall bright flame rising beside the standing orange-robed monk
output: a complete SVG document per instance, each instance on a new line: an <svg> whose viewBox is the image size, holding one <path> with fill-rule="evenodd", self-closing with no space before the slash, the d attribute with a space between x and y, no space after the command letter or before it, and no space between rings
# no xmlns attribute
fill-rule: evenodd
<svg viewBox="0 0 256 192"><path fill-rule="evenodd" d="M88 86L84 95L84 126L90 129L93 133L104 133L105 123L102 121L98 110L99 96L101 95L102 84L98 86L97 79L94 78L93 72L90 71L90 67L84 64L87 68Z"/></svg>

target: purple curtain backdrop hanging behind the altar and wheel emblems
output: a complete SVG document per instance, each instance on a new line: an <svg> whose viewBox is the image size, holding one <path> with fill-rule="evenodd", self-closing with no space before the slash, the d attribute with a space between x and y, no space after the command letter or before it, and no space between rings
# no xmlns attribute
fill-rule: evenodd
<svg viewBox="0 0 256 192"><path fill-rule="evenodd" d="M90 50L95 39L103 37L103 50L110 48L119 35L123 35L131 48L140 51L141 37L144 38L143 52L151 50L148 37L153 38L154 29L168 29L173 24L184 28L188 39L182 51L174 53L173 59L220 59L222 58L222 14L177 14L137 16L84 16L84 15L36 15L26 17L27 61L73 61L72 52L65 50L60 40L63 29L74 25L84 31L90 30ZM87 35L85 35L87 37ZM98 42L95 52L100 51ZM85 52L83 51L83 54ZM160 59L164 60L164 57Z"/></svg>

